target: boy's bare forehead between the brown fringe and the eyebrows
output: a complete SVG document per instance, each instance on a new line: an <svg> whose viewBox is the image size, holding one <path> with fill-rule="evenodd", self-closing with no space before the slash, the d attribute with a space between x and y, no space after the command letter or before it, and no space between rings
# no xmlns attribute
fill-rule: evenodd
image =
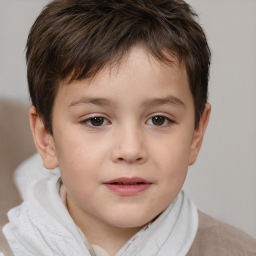
<svg viewBox="0 0 256 256"><path fill-rule="evenodd" d="M174 57L171 63L163 63L143 47L136 46L120 61L106 65L91 78L70 83L63 81L56 100L61 96L61 100L68 98L72 104L89 95L122 101L129 94L136 99L138 95L144 98L169 96L166 93L181 101L190 93L184 64Z"/></svg>

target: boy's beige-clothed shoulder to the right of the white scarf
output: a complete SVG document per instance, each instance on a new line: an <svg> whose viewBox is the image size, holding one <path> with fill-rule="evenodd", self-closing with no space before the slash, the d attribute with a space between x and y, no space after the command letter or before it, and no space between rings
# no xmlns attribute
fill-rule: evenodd
<svg viewBox="0 0 256 256"><path fill-rule="evenodd" d="M187 256L252 256L256 240L242 230L198 211L198 229Z"/></svg>

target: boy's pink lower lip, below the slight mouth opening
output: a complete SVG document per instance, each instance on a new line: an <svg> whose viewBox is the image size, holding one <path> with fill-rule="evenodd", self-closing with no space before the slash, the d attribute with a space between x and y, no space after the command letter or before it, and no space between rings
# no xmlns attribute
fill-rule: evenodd
<svg viewBox="0 0 256 256"><path fill-rule="evenodd" d="M118 185L118 184L109 184L103 183L109 190L115 192L119 195L136 195L140 192L149 188L151 183L143 183L138 185Z"/></svg>

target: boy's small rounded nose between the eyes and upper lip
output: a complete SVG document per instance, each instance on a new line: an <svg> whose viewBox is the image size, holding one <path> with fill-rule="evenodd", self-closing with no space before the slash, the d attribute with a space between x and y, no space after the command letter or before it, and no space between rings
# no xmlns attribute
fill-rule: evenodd
<svg viewBox="0 0 256 256"><path fill-rule="evenodd" d="M137 127L120 129L113 144L111 158L114 162L142 164L148 158L144 136Z"/></svg>

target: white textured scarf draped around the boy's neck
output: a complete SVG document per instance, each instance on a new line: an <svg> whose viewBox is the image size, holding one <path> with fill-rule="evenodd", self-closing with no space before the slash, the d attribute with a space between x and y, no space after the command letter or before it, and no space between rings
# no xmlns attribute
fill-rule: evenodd
<svg viewBox="0 0 256 256"><path fill-rule="evenodd" d="M8 212L3 232L14 255L91 255L59 196L58 168L47 170L35 155L17 170L23 203ZM194 204L180 191L150 226L135 234L116 256L184 256L198 224Z"/></svg>

